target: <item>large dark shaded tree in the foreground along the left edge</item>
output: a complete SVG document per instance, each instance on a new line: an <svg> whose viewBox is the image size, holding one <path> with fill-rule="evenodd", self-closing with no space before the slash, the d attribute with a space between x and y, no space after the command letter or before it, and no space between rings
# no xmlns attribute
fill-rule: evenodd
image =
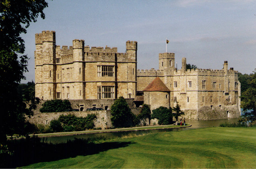
<svg viewBox="0 0 256 169"><path fill-rule="evenodd" d="M6 135L14 133L26 135L24 115L32 115L17 86L25 79L27 71L26 55L23 54L24 40L20 34L26 33L30 22L40 16L44 19L43 9L48 4L44 0L1 0L0 1L0 143L6 143Z"/></svg>

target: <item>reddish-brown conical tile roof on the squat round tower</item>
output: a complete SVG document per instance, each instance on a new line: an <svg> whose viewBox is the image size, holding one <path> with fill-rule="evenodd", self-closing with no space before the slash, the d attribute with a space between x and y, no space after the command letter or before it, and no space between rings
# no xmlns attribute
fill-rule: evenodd
<svg viewBox="0 0 256 169"><path fill-rule="evenodd" d="M156 77L143 91L170 91L168 87Z"/></svg>

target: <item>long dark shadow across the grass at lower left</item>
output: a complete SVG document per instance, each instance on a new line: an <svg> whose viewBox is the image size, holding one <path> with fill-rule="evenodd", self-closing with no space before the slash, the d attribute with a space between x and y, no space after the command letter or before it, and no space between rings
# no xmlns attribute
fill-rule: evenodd
<svg viewBox="0 0 256 169"><path fill-rule="evenodd" d="M109 149L126 147L132 142L93 143L90 139L75 139L67 143L45 143L40 138L13 140L8 143L12 155L0 154L0 168L15 168L39 162L56 161L77 155L92 155Z"/></svg>

